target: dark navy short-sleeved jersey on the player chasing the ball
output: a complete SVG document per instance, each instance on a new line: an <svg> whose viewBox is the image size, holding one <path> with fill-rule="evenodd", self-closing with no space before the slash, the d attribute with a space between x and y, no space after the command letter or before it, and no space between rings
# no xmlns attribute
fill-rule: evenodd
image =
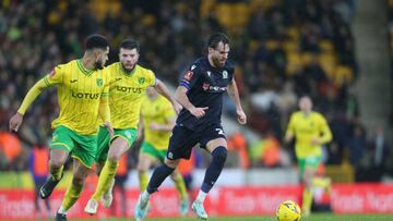
<svg viewBox="0 0 393 221"><path fill-rule="evenodd" d="M180 86L188 88L187 97L196 108L209 107L205 115L196 119L182 109L176 124L191 131L202 131L211 124L221 123L223 94L233 81L235 69L227 61L223 69L209 63L207 57L198 59L184 73Z"/></svg>

